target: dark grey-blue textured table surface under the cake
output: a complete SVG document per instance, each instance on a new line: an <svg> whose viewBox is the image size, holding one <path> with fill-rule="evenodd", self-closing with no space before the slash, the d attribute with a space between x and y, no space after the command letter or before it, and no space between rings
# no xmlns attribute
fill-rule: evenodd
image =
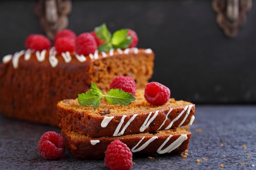
<svg viewBox="0 0 256 170"><path fill-rule="evenodd" d="M0 169L108 169L103 160L78 160L69 150L60 159L44 159L37 143L49 130L60 132L58 128L0 116ZM150 155L143 155L133 157L131 169L256 170L256 105L196 105L195 121L189 131L192 135L186 158L177 154L148 159Z"/></svg>

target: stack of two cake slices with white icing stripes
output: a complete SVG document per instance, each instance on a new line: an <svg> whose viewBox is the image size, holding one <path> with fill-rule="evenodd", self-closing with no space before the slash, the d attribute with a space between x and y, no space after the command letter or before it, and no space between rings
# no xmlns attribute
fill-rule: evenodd
<svg viewBox="0 0 256 170"><path fill-rule="evenodd" d="M96 109L81 106L77 99L59 101L61 132L74 157L103 158L115 139L124 142L133 154L177 153L188 148L191 133L180 127L193 124L194 104L171 98L154 106L146 101L142 89L136 91L135 98L128 106L103 99Z"/></svg>

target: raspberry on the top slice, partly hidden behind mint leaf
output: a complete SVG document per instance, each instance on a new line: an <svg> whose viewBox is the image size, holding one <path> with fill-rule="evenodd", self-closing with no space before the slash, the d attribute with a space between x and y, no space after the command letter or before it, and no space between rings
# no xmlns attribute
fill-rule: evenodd
<svg viewBox="0 0 256 170"><path fill-rule="evenodd" d="M132 93L132 95L136 93L136 83L132 77L129 76L119 75L115 77L110 84L110 89L111 88L118 88L127 93Z"/></svg>

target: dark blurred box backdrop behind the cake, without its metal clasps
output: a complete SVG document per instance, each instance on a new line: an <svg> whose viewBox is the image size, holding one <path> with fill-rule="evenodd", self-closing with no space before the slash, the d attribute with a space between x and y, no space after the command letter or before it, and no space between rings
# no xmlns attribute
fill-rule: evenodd
<svg viewBox="0 0 256 170"><path fill-rule="evenodd" d="M0 59L25 49L31 33L44 34L37 1L0 1ZM236 38L216 22L212 0L73 0L68 29L77 35L106 23L113 33L137 32L139 48L155 52L151 81L171 97L196 104L256 103L256 0Z"/></svg>

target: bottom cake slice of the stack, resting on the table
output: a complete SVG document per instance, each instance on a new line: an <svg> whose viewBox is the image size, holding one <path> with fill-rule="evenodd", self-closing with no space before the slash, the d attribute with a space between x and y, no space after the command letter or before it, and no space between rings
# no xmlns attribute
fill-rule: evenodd
<svg viewBox="0 0 256 170"><path fill-rule="evenodd" d="M133 155L166 154L184 152L189 145L191 132L182 128L143 132L118 137L91 138L74 131L61 130L72 155L78 159L100 159L105 157L107 146L119 139L125 143Z"/></svg>

